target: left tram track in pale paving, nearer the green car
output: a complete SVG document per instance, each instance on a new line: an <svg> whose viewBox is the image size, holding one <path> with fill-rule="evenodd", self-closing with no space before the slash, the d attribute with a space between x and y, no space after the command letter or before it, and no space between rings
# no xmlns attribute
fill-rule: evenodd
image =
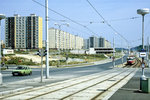
<svg viewBox="0 0 150 100"><path fill-rule="evenodd" d="M71 98L74 95L80 94L83 91L86 91L92 87L98 86L99 84L103 84L104 82L110 81L111 79L115 79L118 76L123 76L121 79L124 79L125 77L127 77L129 74L131 74L134 71L135 69L129 70L128 68L110 70L101 74L98 73L94 75L84 76L78 79L76 78L76 79L72 79L72 80L65 81L65 82L59 82L59 83L52 84L52 85L46 85L46 86L30 89L27 91L21 91L15 94L0 97L0 99L13 100L13 98L15 98L15 100L18 100L18 99L20 100L21 97L26 96L23 100L36 100L36 99L42 99L43 96L52 97L54 95L56 95L56 98L57 98L57 94L61 94L64 92L67 93L68 91L67 89L69 89L69 91L72 90L72 92L67 93L67 95L63 95L60 98L57 98L58 100L67 100L67 98ZM117 83L115 82L115 84ZM110 86L110 88L112 86ZM81 87L81 89L79 87ZM107 89L105 89L105 91L107 91Z"/></svg>

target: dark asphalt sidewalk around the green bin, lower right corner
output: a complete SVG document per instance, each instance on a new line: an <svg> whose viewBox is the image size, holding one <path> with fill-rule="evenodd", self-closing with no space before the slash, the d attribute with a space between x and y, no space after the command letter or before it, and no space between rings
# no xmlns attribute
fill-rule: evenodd
<svg viewBox="0 0 150 100"><path fill-rule="evenodd" d="M150 77L150 69L145 69L145 76ZM109 100L150 100L150 94L140 91L141 70L123 87L121 87Z"/></svg>

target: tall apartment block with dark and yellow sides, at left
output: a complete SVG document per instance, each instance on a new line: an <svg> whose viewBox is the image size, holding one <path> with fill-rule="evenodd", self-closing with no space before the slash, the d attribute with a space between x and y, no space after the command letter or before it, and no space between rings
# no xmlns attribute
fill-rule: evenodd
<svg viewBox="0 0 150 100"><path fill-rule="evenodd" d="M5 45L11 49L42 48L42 18L15 14L5 21Z"/></svg>

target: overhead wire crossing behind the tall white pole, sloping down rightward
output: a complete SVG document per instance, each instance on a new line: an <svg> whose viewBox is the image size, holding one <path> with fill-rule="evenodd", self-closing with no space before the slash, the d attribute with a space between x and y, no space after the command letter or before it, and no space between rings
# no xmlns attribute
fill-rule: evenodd
<svg viewBox="0 0 150 100"><path fill-rule="evenodd" d="M42 6L42 7L45 7L45 5L41 4L40 2L38 2L38 1L36 1L36 0L32 0L32 1L35 2L35 3L37 3L37 4L39 4L39 5ZM62 17L64 17L65 19L70 20L71 22L73 22L73 23L75 23L75 24L77 24L77 25L79 25L79 26L82 26L83 28L85 28L85 29L87 29L89 32L91 32L92 34L98 35L98 34L96 34L95 32L93 32L91 29L89 29L87 26L85 26L85 25L83 25L83 24L81 24L81 23L79 23L79 22L77 22L77 21L75 21L75 20L72 20L71 18L69 18L69 17L67 17L67 16L65 16L65 15L63 15L63 14L61 14L61 13L59 13L59 12L57 12L57 11L51 9L51 8L48 8L48 10L50 10L50 11L52 11L52 12L54 12L54 13L56 13L56 14L62 16Z"/></svg>

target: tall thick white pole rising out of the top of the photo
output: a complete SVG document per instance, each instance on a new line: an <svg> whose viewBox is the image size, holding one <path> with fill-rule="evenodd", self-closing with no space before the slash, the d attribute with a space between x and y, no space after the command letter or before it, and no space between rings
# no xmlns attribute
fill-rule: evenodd
<svg viewBox="0 0 150 100"><path fill-rule="evenodd" d="M45 32L46 32L46 79L49 78L49 41L48 41L48 0L45 0Z"/></svg>

